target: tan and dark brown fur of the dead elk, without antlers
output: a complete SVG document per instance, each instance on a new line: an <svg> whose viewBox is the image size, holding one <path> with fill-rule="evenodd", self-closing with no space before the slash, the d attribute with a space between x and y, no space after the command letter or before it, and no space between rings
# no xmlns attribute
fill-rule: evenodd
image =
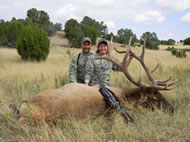
<svg viewBox="0 0 190 142"><path fill-rule="evenodd" d="M164 97L151 88L109 88L122 103L133 103L134 106L161 105L173 111L173 107ZM145 104L143 104L145 103ZM149 106L148 106L149 107ZM163 107L163 108L164 108ZM52 123L57 119L66 119L70 116L85 118L105 114L108 106L98 87L91 87L79 83L66 84L58 89L46 90L25 101L19 109L19 122L27 123L30 119L36 123L45 121Z"/></svg>

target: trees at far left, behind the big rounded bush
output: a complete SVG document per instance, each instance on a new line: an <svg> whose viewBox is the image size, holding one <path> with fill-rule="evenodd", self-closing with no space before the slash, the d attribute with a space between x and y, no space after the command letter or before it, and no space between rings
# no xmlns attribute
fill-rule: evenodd
<svg viewBox="0 0 190 142"><path fill-rule="evenodd" d="M40 26L45 29L48 35L53 35L57 30L62 29L61 23L53 24L49 19L49 15L45 11L32 8L27 11L26 19L13 17L11 21L0 20L0 45L15 48L22 28L27 25Z"/></svg>

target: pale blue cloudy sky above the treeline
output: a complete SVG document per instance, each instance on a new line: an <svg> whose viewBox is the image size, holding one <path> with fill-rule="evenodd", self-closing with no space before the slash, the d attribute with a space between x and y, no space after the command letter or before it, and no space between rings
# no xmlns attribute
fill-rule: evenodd
<svg viewBox="0 0 190 142"><path fill-rule="evenodd" d="M131 29L138 38L155 32L160 40L190 37L190 0L0 0L0 19L25 19L31 8L48 13L53 23L84 16L103 21L109 32Z"/></svg>

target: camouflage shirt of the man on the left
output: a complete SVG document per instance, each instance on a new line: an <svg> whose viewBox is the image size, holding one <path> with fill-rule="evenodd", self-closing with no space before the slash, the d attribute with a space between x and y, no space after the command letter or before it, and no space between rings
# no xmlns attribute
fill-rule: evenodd
<svg viewBox="0 0 190 142"><path fill-rule="evenodd" d="M69 83L73 82L84 83L85 65L88 57L91 55L92 53L89 54L79 53L72 58L69 66Z"/></svg>

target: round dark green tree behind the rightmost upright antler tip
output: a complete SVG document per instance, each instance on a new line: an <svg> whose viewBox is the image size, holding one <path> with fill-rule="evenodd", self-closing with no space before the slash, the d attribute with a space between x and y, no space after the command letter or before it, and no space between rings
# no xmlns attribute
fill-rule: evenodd
<svg viewBox="0 0 190 142"><path fill-rule="evenodd" d="M143 42L144 42L145 35L147 35L146 48L158 50L159 49L158 46L160 45L160 41L159 41L156 33L155 32L143 33L143 35L141 36L141 44L143 44Z"/></svg>

